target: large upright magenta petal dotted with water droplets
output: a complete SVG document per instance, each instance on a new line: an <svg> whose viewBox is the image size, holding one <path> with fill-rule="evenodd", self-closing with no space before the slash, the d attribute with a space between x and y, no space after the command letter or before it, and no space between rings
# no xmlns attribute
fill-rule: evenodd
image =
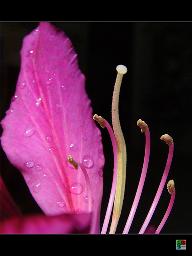
<svg viewBox="0 0 192 256"><path fill-rule="evenodd" d="M24 38L16 92L1 124L2 148L46 215L88 212L83 173L67 157L84 164L92 191L92 232L98 232L101 135L72 43L49 22Z"/></svg>

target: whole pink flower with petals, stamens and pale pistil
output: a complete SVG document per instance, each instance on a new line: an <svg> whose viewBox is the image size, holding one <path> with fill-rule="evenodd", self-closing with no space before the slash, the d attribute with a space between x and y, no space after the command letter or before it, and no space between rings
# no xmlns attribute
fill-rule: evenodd
<svg viewBox="0 0 192 256"><path fill-rule="evenodd" d="M99 233L104 167L101 132L107 128L114 152L112 189L101 233L116 232L126 184L126 144L118 115L120 86L127 68L118 65L112 99L112 125L92 115L85 91L85 78L78 68L72 43L49 22L24 38L21 69L6 117L2 120L2 148L20 170L28 188L44 212L22 216L1 181L2 233ZM94 120L93 120L94 119ZM148 125L138 120L145 133L146 148L138 189L124 234L129 232L144 186L150 157ZM159 227L149 225L172 162L174 143L168 134L161 137L169 146L168 159L152 206L140 234L159 233L172 209L174 181L168 182L170 204ZM148 226L149 225L149 226Z"/></svg>

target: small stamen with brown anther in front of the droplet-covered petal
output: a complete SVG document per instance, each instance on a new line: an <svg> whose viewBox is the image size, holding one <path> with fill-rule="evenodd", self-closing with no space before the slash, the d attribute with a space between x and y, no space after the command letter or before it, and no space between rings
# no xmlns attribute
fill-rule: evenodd
<svg viewBox="0 0 192 256"><path fill-rule="evenodd" d="M84 174L84 177L86 180L86 185L87 185L87 193L88 193L88 212L90 213L90 212L92 212L92 196L91 196L91 185L90 185L90 180L89 180L87 171L86 171L85 167L82 165L82 163L73 160L72 156L68 156L67 160L70 164L72 164L74 166L74 168L76 170L78 169L78 166L80 166L80 168Z"/></svg>

